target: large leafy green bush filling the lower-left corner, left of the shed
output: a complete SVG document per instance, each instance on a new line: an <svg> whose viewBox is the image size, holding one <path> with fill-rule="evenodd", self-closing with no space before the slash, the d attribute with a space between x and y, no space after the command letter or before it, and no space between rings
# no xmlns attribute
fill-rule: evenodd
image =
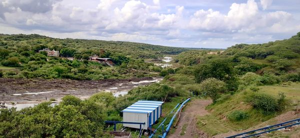
<svg viewBox="0 0 300 138"><path fill-rule="evenodd" d="M38 104L21 111L0 110L0 135L15 137L109 137L103 133L106 118L102 103L81 101L66 96L59 105L51 102Z"/></svg>

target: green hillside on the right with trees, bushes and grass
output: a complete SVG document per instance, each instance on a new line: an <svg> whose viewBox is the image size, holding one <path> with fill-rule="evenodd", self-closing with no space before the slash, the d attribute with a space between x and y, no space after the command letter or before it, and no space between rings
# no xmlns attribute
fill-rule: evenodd
<svg viewBox="0 0 300 138"><path fill-rule="evenodd" d="M264 44L236 44L218 55L185 51L176 56L183 67L163 83L213 100L206 107L210 114L199 117L197 124L210 137L243 131L300 109L299 49L297 33Z"/></svg>

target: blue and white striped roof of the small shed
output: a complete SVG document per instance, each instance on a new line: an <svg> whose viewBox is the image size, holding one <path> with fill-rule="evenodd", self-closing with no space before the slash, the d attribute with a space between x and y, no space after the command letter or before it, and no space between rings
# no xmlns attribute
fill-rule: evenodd
<svg viewBox="0 0 300 138"><path fill-rule="evenodd" d="M121 112L130 112L130 113L151 113L157 107L162 105L163 102L160 101L137 101L131 106L127 107L126 109L122 110Z"/></svg>

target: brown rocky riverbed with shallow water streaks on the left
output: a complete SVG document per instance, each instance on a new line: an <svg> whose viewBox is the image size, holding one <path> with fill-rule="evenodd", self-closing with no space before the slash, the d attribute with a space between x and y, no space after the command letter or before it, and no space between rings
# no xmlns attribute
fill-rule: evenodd
<svg viewBox="0 0 300 138"><path fill-rule="evenodd" d="M100 91L122 92L137 86L144 86L162 78L132 78L132 79L104 79L104 80L69 80L69 79L8 79L0 78L0 102L17 104L40 103L54 98L56 102L65 95L74 95L80 99L87 99ZM137 83L144 81L141 83ZM147 82L150 81L150 82ZM41 92L37 93L36 92Z"/></svg>

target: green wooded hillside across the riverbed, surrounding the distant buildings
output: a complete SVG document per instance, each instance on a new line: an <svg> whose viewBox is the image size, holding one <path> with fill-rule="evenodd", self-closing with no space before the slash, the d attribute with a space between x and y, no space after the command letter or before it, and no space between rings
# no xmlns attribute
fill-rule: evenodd
<svg viewBox="0 0 300 138"><path fill-rule="evenodd" d="M81 39L56 39L36 34L0 35L0 64L21 67L3 71L5 78L42 78L99 80L157 76L161 67L145 63L143 58L159 58L187 49L131 42ZM49 48L60 51L61 57L47 56L38 50ZM134 50L133 50L134 49ZM115 67L87 61L90 56L111 58ZM74 57L69 60L63 57Z"/></svg>

